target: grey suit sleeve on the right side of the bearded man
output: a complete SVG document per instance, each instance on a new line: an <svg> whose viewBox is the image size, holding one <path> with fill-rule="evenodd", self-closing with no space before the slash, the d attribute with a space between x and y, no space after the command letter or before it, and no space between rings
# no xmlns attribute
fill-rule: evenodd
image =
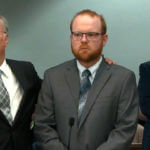
<svg viewBox="0 0 150 150"><path fill-rule="evenodd" d="M96 150L127 150L137 128L138 92L133 73L128 73L122 83L118 99L118 112L114 129L106 142Z"/></svg>

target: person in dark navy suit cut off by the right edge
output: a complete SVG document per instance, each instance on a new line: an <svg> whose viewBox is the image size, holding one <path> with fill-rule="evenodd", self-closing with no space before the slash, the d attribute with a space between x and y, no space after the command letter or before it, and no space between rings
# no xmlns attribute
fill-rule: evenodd
<svg viewBox="0 0 150 150"><path fill-rule="evenodd" d="M138 84L140 108L146 116L144 123L143 150L150 150L150 61L139 67L140 79Z"/></svg>

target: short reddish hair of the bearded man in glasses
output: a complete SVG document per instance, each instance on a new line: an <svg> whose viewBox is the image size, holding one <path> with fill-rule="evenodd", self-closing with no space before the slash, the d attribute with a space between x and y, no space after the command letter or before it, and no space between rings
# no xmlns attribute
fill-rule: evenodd
<svg viewBox="0 0 150 150"><path fill-rule="evenodd" d="M102 25L102 34L106 34L107 32L107 26L106 26L106 22L105 22L105 19L102 15L96 13L95 11L92 11L90 9L85 9L85 10L82 10L80 12L78 12L71 20L70 22L70 31L72 32L72 25L73 25L73 22L75 20L75 18L79 15L89 15L91 17L98 17L100 19L100 22L101 22L101 25Z"/></svg>

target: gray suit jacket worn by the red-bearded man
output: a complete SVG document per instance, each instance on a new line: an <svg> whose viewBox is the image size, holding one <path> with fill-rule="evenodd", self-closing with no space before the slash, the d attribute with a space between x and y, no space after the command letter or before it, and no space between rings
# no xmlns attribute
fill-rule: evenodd
<svg viewBox="0 0 150 150"><path fill-rule="evenodd" d="M78 126L79 89L75 60L45 72L33 117L38 150L67 149L70 117L75 118L71 150L127 150L138 118L134 73L103 60Z"/></svg>

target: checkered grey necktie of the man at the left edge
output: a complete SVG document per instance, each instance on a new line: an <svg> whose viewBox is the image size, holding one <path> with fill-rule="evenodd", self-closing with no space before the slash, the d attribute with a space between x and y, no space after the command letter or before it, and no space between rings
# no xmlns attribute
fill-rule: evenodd
<svg viewBox="0 0 150 150"><path fill-rule="evenodd" d="M7 89L3 83L1 75L4 74L0 70L0 109L7 118L9 124L12 124L12 115L10 112L10 98Z"/></svg>

